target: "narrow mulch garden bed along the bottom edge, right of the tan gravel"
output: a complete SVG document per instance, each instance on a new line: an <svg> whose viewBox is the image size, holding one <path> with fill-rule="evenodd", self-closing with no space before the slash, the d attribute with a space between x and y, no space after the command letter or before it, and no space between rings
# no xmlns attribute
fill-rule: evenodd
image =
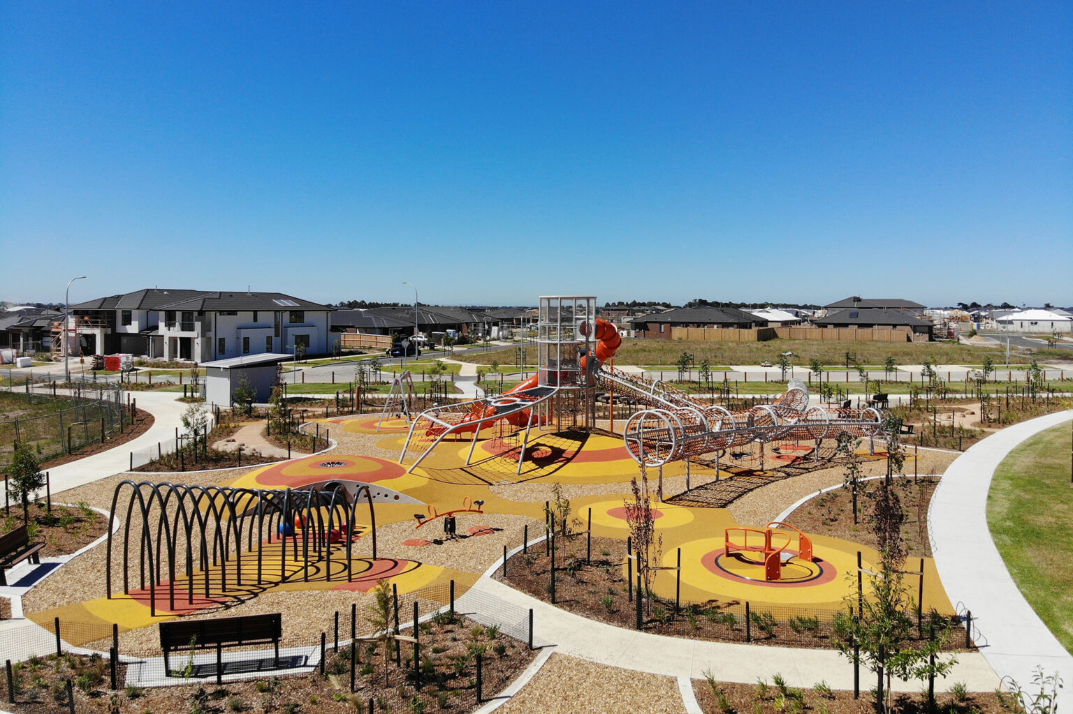
<svg viewBox="0 0 1073 714"><path fill-rule="evenodd" d="M779 687L774 679L778 672L763 672L756 684L733 682L693 681L693 693L704 714L874 714L876 700L864 683L862 672L861 698L852 691L829 689L797 689ZM874 679L868 673L868 681ZM820 682L815 683L821 684ZM814 686L814 685L813 685ZM924 694L895 693L891 701L892 714L926 714L928 712L927 682L922 683ZM942 714L1002 714L1020 712L1014 699L994 691L970 693L958 688L953 693L936 694L935 712Z"/></svg>

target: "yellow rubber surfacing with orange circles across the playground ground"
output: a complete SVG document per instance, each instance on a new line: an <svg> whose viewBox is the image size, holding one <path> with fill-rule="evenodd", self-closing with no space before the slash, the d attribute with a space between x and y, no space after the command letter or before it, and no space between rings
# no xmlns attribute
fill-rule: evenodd
<svg viewBox="0 0 1073 714"><path fill-rule="evenodd" d="M353 420L333 420L341 425L344 431L374 433L370 431L369 419L362 417ZM372 419L374 427L377 419ZM378 442L382 448L401 450L406 441L406 432L399 421L391 422L389 428L395 433L388 433ZM381 432L383 433L383 432ZM295 459L282 464L274 464L259 468L241 476L230 486L251 489L305 488L310 484L336 481L359 481L373 487L383 487L399 494L410 496L420 505L393 503L377 503L377 524L382 527L392 523L414 522L415 512L424 512L431 508L436 512L444 512L462 507L464 501L469 503L483 501L483 509L489 514L510 514L543 520L543 500L513 501L497 495L491 485L532 482L564 485L600 485L612 487L618 493L586 495L572 499L574 514L586 520L588 510L592 511L592 532L594 536L624 540L629 535L627 523L628 502L632 495L626 488L631 479L638 476L636 463L627 453L621 437L604 433L550 433L536 432L531 434L527 446L526 460L523 462L523 474L516 476L517 456L520 440L502 438L493 435L481 436L473 445L473 463L466 464L470 452L472 435L464 435L458 440L446 440L441 443L414 473L407 473L406 466L369 456L332 452L314 457ZM411 460L423 451L427 444L411 444ZM694 473L697 470L694 468ZM664 477L678 476L685 473L685 465L675 463L663 470ZM655 481L655 479L652 479ZM655 482L652 484L655 489ZM818 569L822 572L808 582L798 583L766 583L762 580L763 568L755 566L756 580L749 580L749 566L740 562L725 562L725 567L718 567L718 554L723 550L723 532L727 527L748 526L763 527L764 524L738 523L725 508L707 508L692 505L655 503L656 529L662 536L663 552L661 564L665 567L675 566L678 549L681 549L681 597L684 601L703 603L717 600L749 600L760 605L810 607L817 609L837 610L843 607L843 598L855 595L856 552L861 550L865 557L865 567L876 562L877 555L867 548L856 544L829 538L811 536L815 555L819 560ZM357 510L355 525L367 529L367 510ZM378 529L379 530L379 529ZM530 529L530 537L536 533ZM416 534L421 537L420 532ZM234 571L236 566L229 563L227 587L224 587L221 574L209 572L209 600L235 601L249 599L258 593L271 590L274 592L293 592L302 590L342 589L338 580L342 557L337 555L341 549L333 549L332 570L334 579L326 578L326 564L323 561L311 563L310 577L306 581L302 577L302 566L294 563L289 555L286 567L281 576L279 571L279 544L263 544L264 582L252 586L256 580L256 556L253 553L242 553L244 585L237 586ZM457 569L422 564L418 560L421 549L411 549L412 561L401 561L406 565L389 568L379 575L396 584L401 592L413 592L431 583L445 582L454 579L459 585L457 594L474 582L479 574L490 563L459 563ZM344 551L343 551L344 553ZM299 548L300 556L300 548ZM275 560L274 560L275 557ZM275 565L275 568L273 567ZM914 564L915 565L915 564ZM252 567L252 570L251 570ZM354 560L355 571L371 566L368 559ZM791 563L787 566L788 574L794 570ZM623 564L623 570L626 566ZM219 570L219 568L216 568ZM730 570L730 572L726 572ZM925 577L925 607L935 607L949 611L946 600L935 568L930 564ZM371 571L371 570L370 570ZM204 599L204 572L195 574L194 594ZM200 577L199 577L200 576ZM367 590L376 584L380 577L359 585L347 585L349 590ZM342 582L346 582L343 575ZM133 584L133 583L132 583ZM176 612L186 611L187 580L177 579L177 590L181 586L181 596L176 593ZM121 585L120 585L121 587ZM661 597L673 598L676 587L674 570L660 570L655 590ZM163 596L162 596L163 593ZM163 597L163 603L162 598ZM107 600L98 598L77 605L58 608L36 613L32 619L44 626L49 626L54 616L82 618L101 620L102 622L118 622L121 629L143 627L155 624L162 619L177 616L167 607L167 589L157 589L158 616L149 614L147 593L132 593L131 596L119 596ZM163 605L163 607L162 607ZM203 604L203 607L206 607ZM211 605L207 607L218 607Z"/></svg>

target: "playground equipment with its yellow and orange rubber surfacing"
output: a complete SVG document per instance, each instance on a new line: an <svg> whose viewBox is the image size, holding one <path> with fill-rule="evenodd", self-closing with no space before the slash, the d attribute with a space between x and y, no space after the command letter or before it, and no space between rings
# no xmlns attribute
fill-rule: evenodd
<svg viewBox="0 0 1073 714"><path fill-rule="evenodd" d="M127 633L241 612L269 595L359 594L384 580L403 593L450 583L461 595L504 549L561 535L548 520L548 504L562 497L553 489L569 500L568 533L626 544L642 472L662 541L655 597L828 618L843 606L858 557L868 569L874 550L793 523L739 522L730 506L833 468L838 433L861 440L859 459L882 464L876 410L812 406L799 381L748 411L705 405L616 371L620 339L592 298L541 298L541 310L540 370L510 392L411 414L406 381L396 380L379 416L325 420L342 432L327 453L212 487L116 484L111 509L124 521L105 548L102 592L62 604L54 595L32 619L117 623L134 642ZM598 420L598 391L643 407L624 423ZM629 557L613 566L623 581L632 570ZM952 612L934 568L922 581L925 610Z"/></svg>

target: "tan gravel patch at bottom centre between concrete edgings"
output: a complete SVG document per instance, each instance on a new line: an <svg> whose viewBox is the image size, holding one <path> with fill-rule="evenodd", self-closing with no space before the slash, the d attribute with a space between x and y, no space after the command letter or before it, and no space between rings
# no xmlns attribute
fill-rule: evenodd
<svg viewBox="0 0 1073 714"><path fill-rule="evenodd" d="M502 714L685 714L678 683L670 676L597 665L554 654Z"/></svg>

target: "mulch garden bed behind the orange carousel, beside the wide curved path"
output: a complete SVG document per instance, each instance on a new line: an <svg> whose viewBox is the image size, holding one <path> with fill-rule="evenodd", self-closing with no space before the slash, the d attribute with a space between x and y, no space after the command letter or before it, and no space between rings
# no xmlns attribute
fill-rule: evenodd
<svg viewBox="0 0 1073 714"><path fill-rule="evenodd" d="M891 479L898 494L906 521L901 526L901 537L906 541L907 557L931 557L931 542L928 539L928 505L931 494L939 486L935 477L914 478L902 476ZM849 488L821 493L802 504L787 520L806 533L834 536L876 548L876 534L868 527L872 507L872 494L879 491L882 481L872 479L857 487L857 520L853 523L853 495Z"/></svg>

